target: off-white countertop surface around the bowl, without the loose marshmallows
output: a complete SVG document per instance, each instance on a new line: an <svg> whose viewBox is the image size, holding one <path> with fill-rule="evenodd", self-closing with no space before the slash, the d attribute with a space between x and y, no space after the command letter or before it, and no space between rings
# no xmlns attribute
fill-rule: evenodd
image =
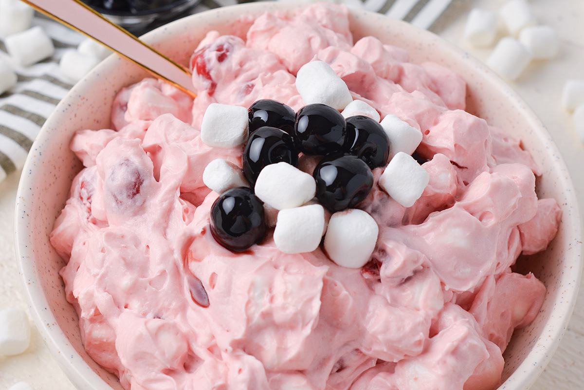
<svg viewBox="0 0 584 390"><path fill-rule="evenodd" d="M497 11L505 0L454 0L433 31L465 48L480 60L490 49L475 50L461 40L465 18L475 6ZM584 79L584 1L531 0L530 4L541 24L550 25L561 38L561 52L551 61L532 62L513 88L538 114L557 143L571 172L578 194L580 210L584 210L584 145L576 137L572 119L559 104L564 83L569 78ZM27 308L16 266L13 220L20 172L0 182L0 309ZM568 330L550 364L532 390L575 390L584 380L584 288L580 288L579 304ZM53 360L36 329L29 349L19 355L0 355L0 389L18 381L29 382L36 390L75 390Z"/></svg>

